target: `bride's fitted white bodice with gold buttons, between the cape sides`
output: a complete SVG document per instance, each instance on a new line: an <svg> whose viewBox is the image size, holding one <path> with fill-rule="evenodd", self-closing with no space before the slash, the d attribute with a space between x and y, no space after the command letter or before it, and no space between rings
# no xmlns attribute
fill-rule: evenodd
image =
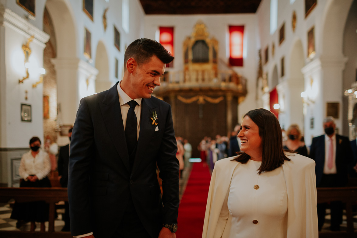
<svg viewBox="0 0 357 238"><path fill-rule="evenodd" d="M228 194L230 238L287 236L288 199L282 167L258 174L261 161L248 160L232 176Z"/></svg>

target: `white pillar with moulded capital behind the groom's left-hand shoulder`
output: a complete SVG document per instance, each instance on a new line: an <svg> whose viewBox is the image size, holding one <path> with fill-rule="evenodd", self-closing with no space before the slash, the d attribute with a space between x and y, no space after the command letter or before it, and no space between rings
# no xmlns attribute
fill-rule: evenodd
<svg viewBox="0 0 357 238"><path fill-rule="evenodd" d="M98 70L78 58L52 59L57 77L57 102L60 121L73 125L81 98L95 93Z"/></svg>

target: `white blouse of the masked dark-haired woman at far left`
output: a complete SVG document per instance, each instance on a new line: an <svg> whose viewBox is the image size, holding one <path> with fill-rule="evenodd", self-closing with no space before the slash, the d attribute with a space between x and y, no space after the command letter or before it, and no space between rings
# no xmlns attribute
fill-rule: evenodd
<svg viewBox="0 0 357 238"><path fill-rule="evenodd" d="M46 177L51 171L51 161L47 152L39 149L35 157L32 156L31 150L24 153L21 158L19 174L21 178L27 181L29 175L35 174L39 180Z"/></svg>

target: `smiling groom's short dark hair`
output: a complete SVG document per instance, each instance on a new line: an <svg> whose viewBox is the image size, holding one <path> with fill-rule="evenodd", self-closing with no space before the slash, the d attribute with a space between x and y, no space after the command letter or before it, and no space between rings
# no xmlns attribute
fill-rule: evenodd
<svg viewBox="0 0 357 238"><path fill-rule="evenodd" d="M134 58L137 64L140 65L148 62L154 55L164 64L169 64L175 59L159 42L146 38L137 39L131 42L125 51L124 69L126 70L126 62L130 58Z"/></svg>

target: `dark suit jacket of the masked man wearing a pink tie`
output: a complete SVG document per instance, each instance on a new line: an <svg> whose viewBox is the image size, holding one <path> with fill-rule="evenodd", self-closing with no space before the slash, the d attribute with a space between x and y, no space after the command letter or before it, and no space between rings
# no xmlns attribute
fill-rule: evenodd
<svg viewBox="0 0 357 238"><path fill-rule="evenodd" d="M310 158L315 160L316 185L321 182L325 166L325 135L312 138ZM336 134L336 169L338 183L345 186L348 181L348 163L352 159L352 151L348 137Z"/></svg>

